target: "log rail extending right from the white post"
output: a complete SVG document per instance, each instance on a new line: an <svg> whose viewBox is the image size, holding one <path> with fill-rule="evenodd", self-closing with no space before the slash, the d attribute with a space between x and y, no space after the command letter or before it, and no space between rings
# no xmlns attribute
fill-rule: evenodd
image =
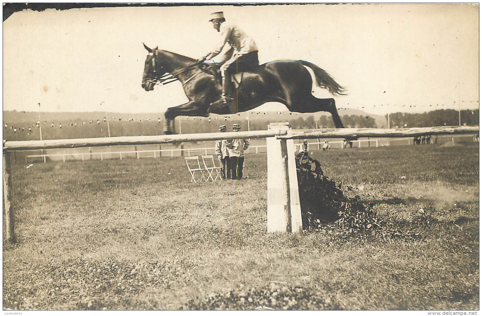
<svg viewBox="0 0 482 316"><path fill-rule="evenodd" d="M290 130L287 135L276 136L278 139L309 138L359 138L359 137L414 137L423 135L473 134L479 133L479 126L435 126L412 128L322 128Z"/></svg>

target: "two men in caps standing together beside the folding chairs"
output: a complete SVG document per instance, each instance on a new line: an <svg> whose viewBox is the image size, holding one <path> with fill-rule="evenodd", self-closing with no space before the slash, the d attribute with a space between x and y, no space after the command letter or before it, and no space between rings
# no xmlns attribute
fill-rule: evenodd
<svg viewBox="0 0 482 316"><path fill-rule="evenodd" d="M233 124L233 132L239 132L239 124ZM226 132L226 125L219 126L220 132ZM221 178L241 180L244 163L244 151L248 149L249 141L244 138L218 139L214 144L214 152L221 165Z"/></svg>

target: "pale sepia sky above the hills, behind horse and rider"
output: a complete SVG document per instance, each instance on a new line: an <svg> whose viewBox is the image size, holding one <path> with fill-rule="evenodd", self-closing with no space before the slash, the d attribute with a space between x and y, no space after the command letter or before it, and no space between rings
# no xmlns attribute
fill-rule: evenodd
<svg viewBox="0 0 482 316"><path fill-rule="evenodd" d="M218 38L208 22L216 11L254 38L260 63L304 59L328 71L348 91L338 108L479 107L477 4L295 4L16 12L3 22L3 110L40 102L49 112L143 113L185 103L179 82L141 87L142 43L198 58Z"/></svg>

